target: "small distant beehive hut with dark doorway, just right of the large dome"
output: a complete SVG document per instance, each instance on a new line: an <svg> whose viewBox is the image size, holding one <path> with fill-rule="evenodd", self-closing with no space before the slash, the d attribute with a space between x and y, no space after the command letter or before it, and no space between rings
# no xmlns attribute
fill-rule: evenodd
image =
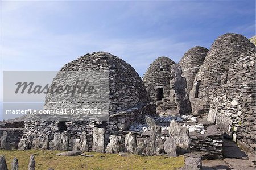
<svg viewBox="0 0 256 170"><path fill-rule="evenodd" d="M147 69L143 81L151 102L159 101L169 95L172 64L175 62L168 57L159 57Z"/></svg>

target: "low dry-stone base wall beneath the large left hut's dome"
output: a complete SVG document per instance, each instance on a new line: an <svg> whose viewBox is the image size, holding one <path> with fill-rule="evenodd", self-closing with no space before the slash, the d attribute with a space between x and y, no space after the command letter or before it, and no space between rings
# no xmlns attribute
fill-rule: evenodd
<svg viewBox="0 0 256 170"><path fill-rule="evenodd" d="M131 123L143 119L144 113L150 111L148 110L150 108L151 106L148 105L132 107L126 111L120 111L117 114L110 115L108 122L26 121L24 135L20 140L19 148L22 150L30 148L52 149L52 141L53 143L60 143L61 146L57 146L59 150L73 150L75 143L80 140L81 135L84 133L86 134L86 145L88 145L88 151L92 151L94 127L105 129L105 146L109 143L110 135L121 136L121 142L124 144L125 135L127 134L126 131L130 127ZM152 107L152 109L154 108ZM61 139L57 139L57 137L60 137ZM53 149L56 148L53 147Z"/></svg>

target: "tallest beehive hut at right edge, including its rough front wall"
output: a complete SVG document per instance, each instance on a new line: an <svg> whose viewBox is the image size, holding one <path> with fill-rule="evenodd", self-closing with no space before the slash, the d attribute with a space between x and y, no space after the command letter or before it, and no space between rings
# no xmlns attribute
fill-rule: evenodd
<svg viewBox="0 0 256 170"><path fill-rule="evenodd" d="M189 96L193 111L210 109L210 122L234 140L255 144L255 77L255 45L243 35L220 36L196 74Z"/></svg>

